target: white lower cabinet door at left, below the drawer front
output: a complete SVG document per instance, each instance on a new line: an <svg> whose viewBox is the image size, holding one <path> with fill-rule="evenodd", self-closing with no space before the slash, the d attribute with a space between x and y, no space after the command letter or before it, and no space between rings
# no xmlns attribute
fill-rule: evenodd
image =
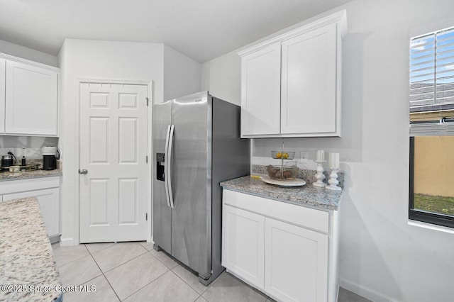
<svg viewBox="0 0 454 302"><path fill-rule="evenodd" d="M3 201L16 198L36 197L40 204L41 214L48 230L48 236L60 234L60 189L43 189L36 191L26 191L21 193L5 194Z"/></svg>

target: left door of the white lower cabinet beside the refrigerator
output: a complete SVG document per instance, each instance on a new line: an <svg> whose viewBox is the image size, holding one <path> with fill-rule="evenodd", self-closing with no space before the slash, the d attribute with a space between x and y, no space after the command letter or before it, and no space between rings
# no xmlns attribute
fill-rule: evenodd
<svg viewBox="0 0 454 302"><path fill-rule="evenodd" d="M265 217L223 206L222 265L249 284L263 289Z"/></svg>

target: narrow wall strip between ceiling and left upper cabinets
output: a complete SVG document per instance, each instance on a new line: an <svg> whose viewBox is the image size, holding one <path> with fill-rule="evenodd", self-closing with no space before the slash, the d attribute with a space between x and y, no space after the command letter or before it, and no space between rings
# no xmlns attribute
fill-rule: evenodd
<svg viewBox="0 0 454 302"><path fill-rule="evenodd" d="M0 52L6 53L7 55L13 55L15 57L21 57L23 59L43 63L53 67L59 67L58 58L55 55L49 55L45 52L40 52L28 47L6 42L5 40L0 40Z"/></svg>

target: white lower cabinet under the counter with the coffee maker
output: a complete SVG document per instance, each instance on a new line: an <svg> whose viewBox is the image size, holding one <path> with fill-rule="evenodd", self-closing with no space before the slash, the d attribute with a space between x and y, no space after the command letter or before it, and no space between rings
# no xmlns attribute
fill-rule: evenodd
<svg viewBox="0 0 454 302"><path fill-rule="evenodd" d="M60 237L60 177L4 181L3 201L36 197L51 242ZM1 196L0 196L1 200Z"/></svg>

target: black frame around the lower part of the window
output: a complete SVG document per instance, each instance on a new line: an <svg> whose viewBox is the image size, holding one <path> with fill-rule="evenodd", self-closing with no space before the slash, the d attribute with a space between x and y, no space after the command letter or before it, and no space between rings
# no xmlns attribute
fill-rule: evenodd
<svg viewBox="0 0 454 302"><path fill-rule="evenodd" d="M414 136L410 136L409 152L409 220L454 228L454 216L414 209Z"/></svg>

